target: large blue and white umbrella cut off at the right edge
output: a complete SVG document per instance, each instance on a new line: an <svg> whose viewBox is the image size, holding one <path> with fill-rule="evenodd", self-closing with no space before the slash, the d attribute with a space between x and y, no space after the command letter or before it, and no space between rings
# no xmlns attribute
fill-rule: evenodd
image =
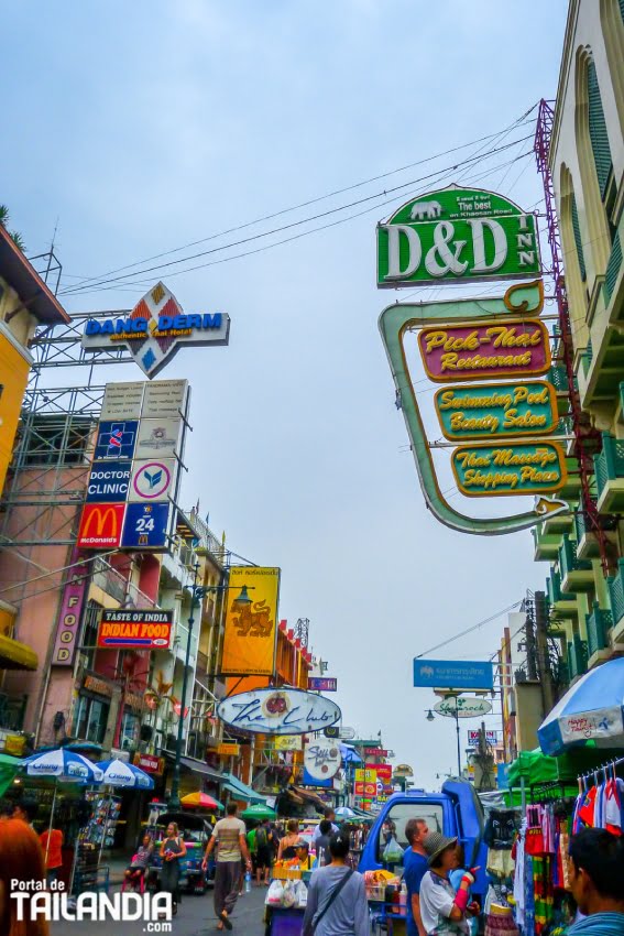
<svg viewBox="0 0 624 936"><path fill-rule="evenodd" d="M624 657L585 673L568 689L537 730L545 754L593 741L599 747L624 742Z"/></svg>

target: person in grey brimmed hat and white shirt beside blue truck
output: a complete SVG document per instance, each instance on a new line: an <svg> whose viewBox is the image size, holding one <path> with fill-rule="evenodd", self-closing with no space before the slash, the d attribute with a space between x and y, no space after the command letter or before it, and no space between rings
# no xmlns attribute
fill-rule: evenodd
<svg viewBox="0 0 624 936"><path fill-rule="evenodd" d="M472 868L462 875L456 893L448 875L459 867L457 838L441 832L429 832L423 842L427 852L429 870L420 882L420 918L428 934L466 934L469 927L466 912L478 912L477 904L469 904L470 888L478 869Z"/></svg>

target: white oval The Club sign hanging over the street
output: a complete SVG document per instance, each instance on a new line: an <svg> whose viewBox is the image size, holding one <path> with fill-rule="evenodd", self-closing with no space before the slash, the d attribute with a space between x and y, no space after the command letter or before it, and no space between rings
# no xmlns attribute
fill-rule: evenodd
<svg viewBox="0 0 624 936"><path fill-rule="evenodd" d="M258 734L307 734L340 721L336 703L300 689L253 689L228 696L217 715L227 725Z"/></svg>

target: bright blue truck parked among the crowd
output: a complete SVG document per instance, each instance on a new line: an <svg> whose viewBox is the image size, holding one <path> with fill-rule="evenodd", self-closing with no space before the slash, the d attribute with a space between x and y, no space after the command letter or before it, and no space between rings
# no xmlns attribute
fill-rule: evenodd
<svg viewBox="0 0 624 936"><path fill-rule="evenodd" d="M481 802L471 783L464 780L448 780L439 793L426 793L424 790L408 790L390 797L372 827L359 870L375 871L383 868L382 853L385 848L384 824L394 823L396 838L403 849L409 848L405 837L408 819L426 819L429 831L439 831L446 836L457 836L463 846L466 864L479 866L472 892L483 905L488 893L485 862L488 847L483 842L484 815Z"/></svg>

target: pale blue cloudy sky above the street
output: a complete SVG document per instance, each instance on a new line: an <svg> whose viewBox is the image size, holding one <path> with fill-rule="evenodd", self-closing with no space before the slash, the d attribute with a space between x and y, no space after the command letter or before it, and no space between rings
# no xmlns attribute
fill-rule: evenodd
<svg viewBox="0 0 624 936"><path fill-rule="evenodd" d="M527 532L467 536L425 508L377 318L453 289L377 291L375 225L458 181L539 210L522 117L555 97L566 11L563 0L2 4L0 203L26 253L47 250L56 228L69 313L129 309L158 279L187 312L229 313L229 347L183 350L160 374L193 388L184 502L199 499L234 553L282 568L280 617L309 618L343 723L381 730L428 788L455 772L455 725L426 720L436 699L413 688L414 656L489 659L499 612L543 588L546 567ZM285 225L296 226L265 236ZM135 270L214 252L97 286L195 241ZM98 371L101 383L141 379L133 366Z"/></svg>

